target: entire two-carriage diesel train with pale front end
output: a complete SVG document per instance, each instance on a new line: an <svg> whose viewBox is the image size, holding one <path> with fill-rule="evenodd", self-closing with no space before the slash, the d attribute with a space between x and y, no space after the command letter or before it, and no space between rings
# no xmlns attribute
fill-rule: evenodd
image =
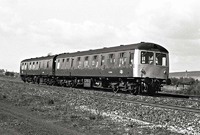
<svg viewBox="0 0 200 135"><path fill-rule="evenodd" d="M169 84L169 53L141 42L21 61L24 82L154 94Z"/></svg>

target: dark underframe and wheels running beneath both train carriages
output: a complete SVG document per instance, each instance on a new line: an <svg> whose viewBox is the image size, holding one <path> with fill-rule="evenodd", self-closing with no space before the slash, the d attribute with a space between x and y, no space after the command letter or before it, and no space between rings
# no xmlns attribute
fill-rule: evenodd
<svg viewBox="0 0 200 135"><path fill-rule="evenodd" d="M114 93L119 91L129 91L131 94L137 95L147 93L154 95L161 91L164 79L156 78L126 78L126 77L83 77L83 76L34 76L21 75L24 82L47 84L63 87L79 87L79 88L101 88L112 89Z"/></svg>

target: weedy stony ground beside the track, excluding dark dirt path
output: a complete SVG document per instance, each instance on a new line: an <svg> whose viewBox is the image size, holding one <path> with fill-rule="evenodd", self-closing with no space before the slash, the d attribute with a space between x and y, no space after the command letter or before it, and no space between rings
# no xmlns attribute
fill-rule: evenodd
<svg viewBox="0 0 200 135"><path fill-rule="evenodd" d="M102 91L0 80L0 101L9 101L13 105L25 107L47 121L63 127L68 125L86 134L200 134L199 114L119 102L109 98L98 99L91 94L113 95ZM149 102L162 101L166 104L173 104L174 100L120 93L116 96ZM180 99L174 102L181 105L184 103L199 107L198 101L193 103L187 99Z"/></svg>

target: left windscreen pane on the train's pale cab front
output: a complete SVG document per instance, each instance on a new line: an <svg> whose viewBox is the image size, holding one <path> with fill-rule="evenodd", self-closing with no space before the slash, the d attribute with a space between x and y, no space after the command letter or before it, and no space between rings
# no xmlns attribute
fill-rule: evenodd
<svg viewBox="0 0 200 135"><path fill-rule="evenodd" d="M141 63L142 64L153 64L154 56L153 52L141 52Z"/></svg>

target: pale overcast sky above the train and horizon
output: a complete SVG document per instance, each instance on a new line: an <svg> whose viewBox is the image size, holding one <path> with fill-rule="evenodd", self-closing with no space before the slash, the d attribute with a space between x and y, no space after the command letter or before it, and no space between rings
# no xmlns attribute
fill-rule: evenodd
<svg viewBox="0 0 200 135"><path fill-rule="evenodd" d="M153 42L200 71L199 0L0 0L0 69L26 58Z"/></svg>

